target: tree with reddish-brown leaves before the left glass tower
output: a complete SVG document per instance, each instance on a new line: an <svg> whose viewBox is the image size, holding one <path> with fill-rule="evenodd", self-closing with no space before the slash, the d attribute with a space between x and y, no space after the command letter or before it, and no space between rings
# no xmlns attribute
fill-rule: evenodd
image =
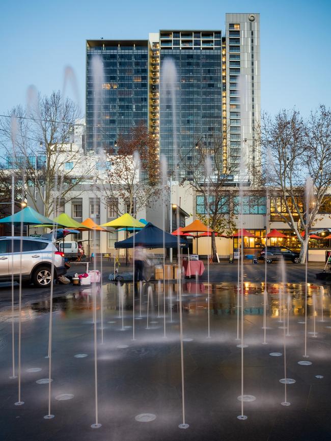
<svg viewBox="0 0 331 441"><path fill-rule="evenodd" d="M155 154L151 154L156 143L143 124L134 127L131 136L119 136L117 143L118 154L111 151L106 156L108 166L102 191L106 204L117 199L125 202L124 209L119 207L119 214L127 211L135 216L160 194L160 187L155 185Z"/></svg>

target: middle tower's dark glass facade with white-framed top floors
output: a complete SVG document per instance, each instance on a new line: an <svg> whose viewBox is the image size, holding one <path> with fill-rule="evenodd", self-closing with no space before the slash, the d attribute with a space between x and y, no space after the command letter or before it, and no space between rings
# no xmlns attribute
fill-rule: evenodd
<svg viewBox="0 0 331 441"><path fill-rule="evenodd" d="M180 177L185 176L184 161L194 161L194 148L201 137L202 147L208 148L213 135L222 134L220 36L220 31L160 31L160 153L167 157L170 170L178 168ZM172 59L177 70L178 157L174 157L171 96L162 87L165 59Z"/></svg>

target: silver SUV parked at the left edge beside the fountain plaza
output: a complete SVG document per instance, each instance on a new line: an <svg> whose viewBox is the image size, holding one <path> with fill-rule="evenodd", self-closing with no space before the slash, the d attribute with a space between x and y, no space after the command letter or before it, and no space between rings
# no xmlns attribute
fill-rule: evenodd
<svg viewBox="0 0 331 441"><path fill-rule="evenodd" d="M37 237L0 237L0 281L33 283L38 288L51 285L51 266L54 264L54 278L67 272L64 254L47 239Z"/></svg>

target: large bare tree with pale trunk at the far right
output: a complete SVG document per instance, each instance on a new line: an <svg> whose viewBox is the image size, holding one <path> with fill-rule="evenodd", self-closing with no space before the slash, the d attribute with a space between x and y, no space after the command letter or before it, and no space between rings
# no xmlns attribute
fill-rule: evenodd
<svg viewBox="0 0 331 441"><path fill-rule="evenodd" d="M260 128L263 181L270 187L273 210L296 234L300 262L306 259L310 231L331 185L331 112L324 105L307 120L298 111L263 115ZM306 182L312 191L306 198ZM308 201L308 203L307 203Z"/></svg>

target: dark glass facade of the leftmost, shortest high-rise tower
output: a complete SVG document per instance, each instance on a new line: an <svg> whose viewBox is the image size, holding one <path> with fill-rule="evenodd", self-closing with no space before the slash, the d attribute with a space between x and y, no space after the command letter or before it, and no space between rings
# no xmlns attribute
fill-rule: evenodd
<svg viewBox="0 0 331 441"><path fill-rule="evenodd" d="M103 82L93 84L92 60L103 64ZM101 105L94 115L94 99ZM86 150L117 153L119 135L148 122L148 45L146 41L88 41L86 75Z"/></svg>

